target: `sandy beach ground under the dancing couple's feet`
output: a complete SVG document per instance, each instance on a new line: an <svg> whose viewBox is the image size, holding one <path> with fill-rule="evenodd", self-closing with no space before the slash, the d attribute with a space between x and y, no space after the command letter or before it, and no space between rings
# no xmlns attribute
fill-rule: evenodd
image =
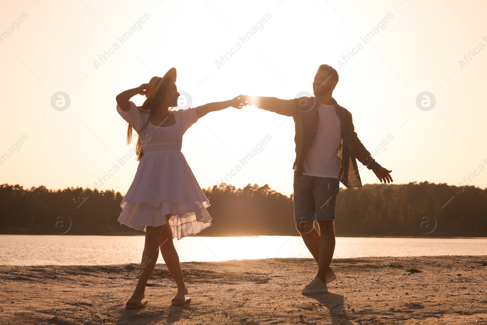
<svg viewBox="0 0 487 325"><path fill-rule="evenodd" d="M157 264L147 307L126 310L137 267L0 266L1 324L487 324L487 256L336 259L320 295L300 293L311 259L189 262L185 306Z"/></svg>

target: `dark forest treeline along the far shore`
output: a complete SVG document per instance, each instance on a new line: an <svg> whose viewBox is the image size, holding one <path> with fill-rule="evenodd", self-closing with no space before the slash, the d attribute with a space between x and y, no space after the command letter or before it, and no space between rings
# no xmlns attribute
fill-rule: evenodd
<svg viewBox="0 0 487 325"><path fill-rule="evenodd" d="M222 183L203 189L211 206L211 227L201 236L299 235L292 195L268 185L243 189ZM120 225L123 196L86 188L48 190L0 185L0 233L130 235ZM341 189L337 236L487 236L487 189L428 182L366 184Z"/></svg>

